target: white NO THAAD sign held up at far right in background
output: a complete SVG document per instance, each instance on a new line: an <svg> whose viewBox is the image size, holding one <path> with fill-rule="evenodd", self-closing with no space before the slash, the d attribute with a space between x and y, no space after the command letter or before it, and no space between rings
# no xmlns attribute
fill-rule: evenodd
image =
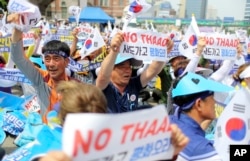
<svg viewBox="0 0 250 161"><path fill-rule="evenodd" d="M238 39L234 35L211 34L205 35L206 48L204 58L215 60L235 60L237 57Z"/></svg>

